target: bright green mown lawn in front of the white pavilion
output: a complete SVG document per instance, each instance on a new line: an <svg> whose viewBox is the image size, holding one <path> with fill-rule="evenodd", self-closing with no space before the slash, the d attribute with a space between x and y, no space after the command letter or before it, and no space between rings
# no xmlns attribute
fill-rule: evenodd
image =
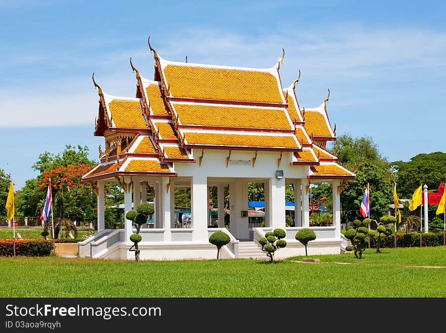
<svg viewBox="0 0 446 333"><path fill-rule="evenodd" d="M444 246L317 257L324 263L0 257L0 297L446 297Z"/></svg>

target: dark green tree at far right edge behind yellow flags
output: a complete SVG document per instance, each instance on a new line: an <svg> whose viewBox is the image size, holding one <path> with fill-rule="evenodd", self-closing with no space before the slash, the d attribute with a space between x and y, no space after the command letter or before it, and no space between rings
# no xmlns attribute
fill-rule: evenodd
<svg viewBox="0 0 446 333"><path fill-rule="evenodd" d="M420 184L427 184L430 190L436 191L446 180L446 153L418 154L408 162L395 161L391 167L396 174L398 194L412 198Z"/></svg>

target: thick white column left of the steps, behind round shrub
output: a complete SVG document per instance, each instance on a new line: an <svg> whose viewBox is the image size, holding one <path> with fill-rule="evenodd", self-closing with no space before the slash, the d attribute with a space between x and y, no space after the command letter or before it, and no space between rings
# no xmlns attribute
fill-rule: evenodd
<svg viewBox="0 0 446 333"><path fill-rule="evenodd" d="M193 240L206 242L207 237L207 177L201 173L192 177L191 213L194 228Z"/></svg>

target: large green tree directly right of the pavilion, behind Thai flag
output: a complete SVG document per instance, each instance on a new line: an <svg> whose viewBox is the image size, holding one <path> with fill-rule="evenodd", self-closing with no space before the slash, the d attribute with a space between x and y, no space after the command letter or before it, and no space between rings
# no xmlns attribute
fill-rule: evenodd
<svg viewBox="0 0 446 333"><path fill-rule="evenodd" d="M378 145L370 137L353 138L349 134L338 137L334 151L338 161L348 169L356 165L356 177L348 181L341 195L344 221L358 216L362 196L370 184L370 217L378 219L389 209L392 198L393 174L389 162L381 156Z"/></svg>

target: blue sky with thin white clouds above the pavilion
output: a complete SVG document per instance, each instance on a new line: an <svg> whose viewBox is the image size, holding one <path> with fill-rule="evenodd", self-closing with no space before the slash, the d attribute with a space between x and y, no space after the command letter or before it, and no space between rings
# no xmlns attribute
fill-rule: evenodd
<svg viewBox="0 0 446 333"><path fill-rule="evenodd" d="M94 137L97 91L135 94L129 58L152 78L146 40L165 59L280 67L301 106L328 113L337 134L368 135L390 161L444 151L446 5L438 1L0 0L0 168L16 188L39 154Z"/></svg>

